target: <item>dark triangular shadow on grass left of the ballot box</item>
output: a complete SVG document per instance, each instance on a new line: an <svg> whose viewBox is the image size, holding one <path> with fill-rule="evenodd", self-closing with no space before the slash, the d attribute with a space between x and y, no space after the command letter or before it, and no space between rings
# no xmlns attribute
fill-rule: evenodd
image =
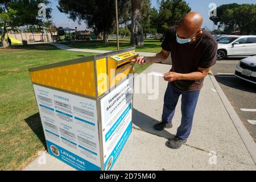
<svg viewBox="0 0 256 182"><path fill-rule="evenodd" d="M25 119L27 125L30 129L36 134L39 140L42 142L44 148L47 150L46 138L44 137L43 126L41 123L39 113L31 115L30 117Z"/></svg>

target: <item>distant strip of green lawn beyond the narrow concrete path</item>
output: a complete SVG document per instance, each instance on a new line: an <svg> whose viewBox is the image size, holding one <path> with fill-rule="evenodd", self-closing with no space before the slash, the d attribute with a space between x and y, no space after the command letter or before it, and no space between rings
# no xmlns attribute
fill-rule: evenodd
<svg viewBox="0 0 256 182"><path fill-rule="evenodd" d="M110 39L109 42L104 43L100 40L92 40L92 41L79 41L79 42L68 42L68 43L61 43L65 44L70 47L75 48L86 48L86 49L98 49L98 50L106 50L106 51L115 51L117 49L117 42L115 40ZM161 51L161 44L160 40L155 39L145 39L144 46L137 46L136 51L138 52L154 52L158 53ZM130 40L125 38L121 39L119 43L120 49L129 48L130 47Z"/></svg>

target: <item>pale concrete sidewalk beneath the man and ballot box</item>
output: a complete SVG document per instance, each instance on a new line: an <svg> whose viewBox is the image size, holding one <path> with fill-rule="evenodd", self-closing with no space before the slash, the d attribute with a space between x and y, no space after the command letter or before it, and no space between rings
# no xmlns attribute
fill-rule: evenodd
<svg viewBox="0 0 256 182"><path fill-rule="evenodd" d="M152 64L143 73L168 72L170 65ZM135 85L138 80L135 79ZM133 133L115 163L113 170L256 170L236 127L216 92L210 76L205 78L194 118L191 137L179 150L165 146L176 134L181 112L177 105L174 128L161 132L153 126L162 115L167 82L159 78L158 100L148 100L148 94L134 94ZM216 152L216 156L209 152ZM209 159L216 162L210 165ZM214 159L217 159L214 161ZM38 159L24 170L72 170L71 167L47 154L46 165Z"/></svg>

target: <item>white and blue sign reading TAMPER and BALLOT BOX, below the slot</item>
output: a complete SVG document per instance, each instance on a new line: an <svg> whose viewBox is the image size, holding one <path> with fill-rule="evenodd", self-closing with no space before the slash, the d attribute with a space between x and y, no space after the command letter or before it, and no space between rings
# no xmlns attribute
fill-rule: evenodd
<svg viewBox="0 0 256 182"><path fill-rule="evenodd" d="M109 171L131 133L133 77L101 99L104 168Z"/></svg>

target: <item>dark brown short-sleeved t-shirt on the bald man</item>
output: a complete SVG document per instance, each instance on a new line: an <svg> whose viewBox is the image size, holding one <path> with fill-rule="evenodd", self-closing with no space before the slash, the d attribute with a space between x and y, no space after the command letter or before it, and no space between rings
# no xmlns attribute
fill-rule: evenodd
<svg viewBox="0 0 256 182"><path fill-rule="evenodd" d="M203 31L199 40L192 43L179 44L176 41L177 26L171 27L162 43L165 51L171 52L172 69L176 73L192 73L200 68L210 68L216 64L218 43L213 36ZM202 80L176 80L172 85L182 91L196 91L203 87Z"/></svg>

